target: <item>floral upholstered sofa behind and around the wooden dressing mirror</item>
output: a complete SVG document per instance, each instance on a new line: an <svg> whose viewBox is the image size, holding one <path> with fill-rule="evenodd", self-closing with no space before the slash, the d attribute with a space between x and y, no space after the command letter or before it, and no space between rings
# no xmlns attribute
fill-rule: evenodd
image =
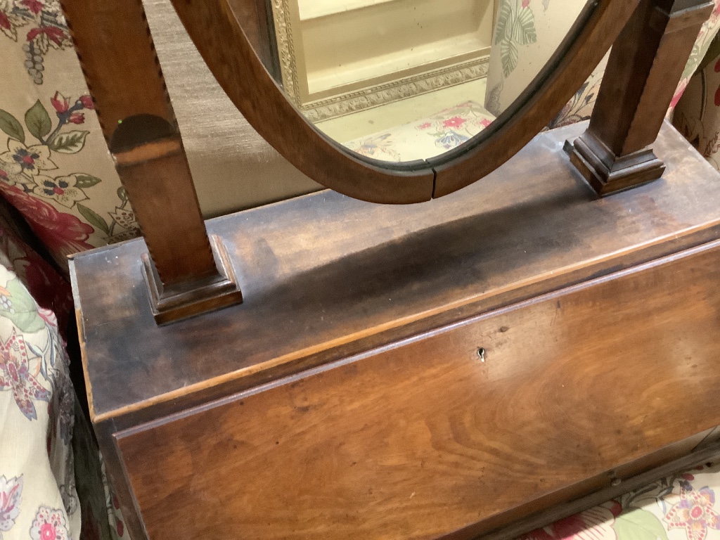
<svg viewBox="0 0 720 540"><path fill-rule="evenodd" d="M540 21L547 5L523 0L518 9ZM319 189L234 109L168 1L145 6L205 215ZM708 50L720 54L711 48L719 24L716 9L673 102L680 128L716 166L720 62L701 60L715 54ZM66 256L133 238L138 225L58 1L0 0L0 58L0 540L122 538L84 396L76 396L83 383L68 326ZM554 125L589 116L602 72L598 66ZM719 486L720 468L708 464L527 537L720 540Z"/></svg>

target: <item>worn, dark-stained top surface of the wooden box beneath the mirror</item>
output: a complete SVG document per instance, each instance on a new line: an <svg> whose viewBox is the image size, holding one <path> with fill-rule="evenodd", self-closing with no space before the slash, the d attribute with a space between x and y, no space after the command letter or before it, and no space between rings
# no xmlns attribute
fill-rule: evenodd
<svg viewBox="0 0 720 540"><path fill-rule="evenodd" d="M323 191L210 220L243 304L179 323L153 320L143 240L75 256L96 420L221 397L720 234L720 175L672 127L654 146L663 178L606 199L562 151L585 127L542 133L482 181L423 204Z"/></svg>

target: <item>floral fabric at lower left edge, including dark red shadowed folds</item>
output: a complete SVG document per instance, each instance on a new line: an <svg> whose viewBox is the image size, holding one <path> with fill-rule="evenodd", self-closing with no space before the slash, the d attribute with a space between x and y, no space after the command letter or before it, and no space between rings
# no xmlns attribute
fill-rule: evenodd
<svg viewBox="0 0 720 540"><path fill-rule="evenodd" d="M68 373L70 286L11 228L0 212L0 540L125 539Z"/></svg>

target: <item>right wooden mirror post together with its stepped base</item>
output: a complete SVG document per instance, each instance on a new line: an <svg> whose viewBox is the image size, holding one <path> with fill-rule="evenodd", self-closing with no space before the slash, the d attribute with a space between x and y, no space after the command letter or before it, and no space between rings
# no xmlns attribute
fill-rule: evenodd
<svg viewBox="0 0 720 540"><path fill-rule="evenodd" d="M600 197L665 171L652 143L713 7L707 0L642 0L614 43L588 130L566 143Z"/></svg>

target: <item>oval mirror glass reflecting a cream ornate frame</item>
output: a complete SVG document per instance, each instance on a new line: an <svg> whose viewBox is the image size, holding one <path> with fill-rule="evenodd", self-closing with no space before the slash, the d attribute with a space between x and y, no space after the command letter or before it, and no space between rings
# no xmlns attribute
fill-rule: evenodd
<svg viewBox="0 0 720 540"><path fill-rule="evenodd" d="M329 138L395 163L477 140L590 11L588 0L250 1L254 13L231 3L287 99Z"/></svg>

